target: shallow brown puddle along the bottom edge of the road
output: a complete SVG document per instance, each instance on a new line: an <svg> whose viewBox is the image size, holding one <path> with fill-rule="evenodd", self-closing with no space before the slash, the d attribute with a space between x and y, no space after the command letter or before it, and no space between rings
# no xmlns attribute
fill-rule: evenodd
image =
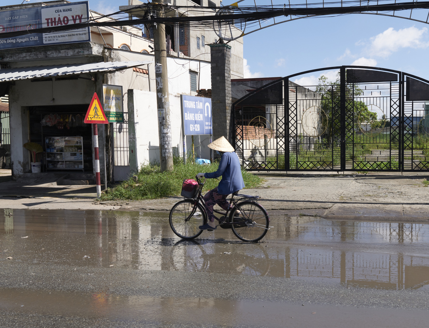
<svg viewBox="0 0 429 328"><path fill-rule="evenodd" d="M88 327L92 322L99 327L97 319L110 319L116 323L138 322L141 326L160 324L162 327L174 324L175 327L342 328L347 322L350 328L390 328L425 327L427 324L426 311L216 298L114 296L103 292L86 295L0 289L0 307L3 318L5 313L13 313L12 322L19 318L19 314L27 313L54 318L60 316L62 322L67 319L73 322L73 317L85 318L85 326ZM49 317L44 319L46 321Z"/></svg>

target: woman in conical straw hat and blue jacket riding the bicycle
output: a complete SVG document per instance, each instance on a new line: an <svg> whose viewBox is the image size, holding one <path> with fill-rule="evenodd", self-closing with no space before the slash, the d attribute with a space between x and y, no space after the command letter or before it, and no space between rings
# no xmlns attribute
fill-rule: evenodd
<svg viewBox="0 0 429 328"><path fill-rule="evenodd" d="M227 139L222 136L209 144L208 147L221 153L219 168L216 172L198 173L197 178L212 179L222 176L222 180L219 182L218 187L210 190L204 196L208 222L203 226L199 226L201 230L215 230L215 219L217 217L213 215L213 206L218 204L225 211L229 210L230 204L227 202L227 196L245 187L239 157Z"/></svg>

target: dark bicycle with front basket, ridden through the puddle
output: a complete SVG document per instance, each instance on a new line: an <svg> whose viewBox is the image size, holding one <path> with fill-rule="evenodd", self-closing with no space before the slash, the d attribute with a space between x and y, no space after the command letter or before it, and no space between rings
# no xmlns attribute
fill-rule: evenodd
<svg viewBox="0 0 429 328"><path fill-rule="evenodd" d="M196 178L196 177L195 177ZM182 239L194 239L201 235L203 230L199 226L207 223L207 213L205 203L202 198L202 187L204 181L199 181L198 192L192 199L184 199L173 205L169 214L169 223L172 231ZM239 197L239 199L234 199ZM230 207L226 212L213 210L221 214L217 218L219 225L223 229L232 229L234 235L242 241L257 242L260 241L272 226L269 226L269 215L262 205L258 204L259 196L242 195L238 192L232 194ZM228 215L229 213L229 215ZM208 229L211 231L211 229Z"/></svg>

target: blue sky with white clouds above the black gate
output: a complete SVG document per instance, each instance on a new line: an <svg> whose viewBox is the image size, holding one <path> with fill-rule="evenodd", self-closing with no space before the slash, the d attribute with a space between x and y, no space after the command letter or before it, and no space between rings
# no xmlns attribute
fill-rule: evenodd
<svg viewBox="0 0 429 328"><path fill-rule="evenodd" d="M30 0L29 3L40 0ZM0 0L0 6L23 0ZM227 5L228 0L223 4ZM233 2L232 0L230 1ZM283 1L272 0L274 4ZM301 0L293 3L301 3ZM269 5L271 0L256 0ZM89 0L90 8L102 14L118 11L128 0ZM254 5L245 0L240 5ZM426 20L428 9L416 10ZM262 26L270 24L263 22ZM429 24L380 15L351 14L305 18L256 31L244 37L245 78L283 77L329 66L363 65L396 69L429 79ZM249 30L245 30L248 32ZM301 85L314 85L320 74L335 80L334 71L291 78Z"/></svg>

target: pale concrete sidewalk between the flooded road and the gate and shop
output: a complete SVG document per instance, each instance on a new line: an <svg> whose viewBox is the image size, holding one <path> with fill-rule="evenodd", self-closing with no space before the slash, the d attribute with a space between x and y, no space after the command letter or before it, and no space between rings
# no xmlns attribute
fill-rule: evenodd
<svg viewBox="0 0 429 328"><path fill-rule="evenodd" d="M255 173L266 182L242 193L258 195L269 214L328 219L429 222L429 173ZM95 186L0 184L0 208L121 209L169 211L182 197L148 201L94 202Z"/></svg>

